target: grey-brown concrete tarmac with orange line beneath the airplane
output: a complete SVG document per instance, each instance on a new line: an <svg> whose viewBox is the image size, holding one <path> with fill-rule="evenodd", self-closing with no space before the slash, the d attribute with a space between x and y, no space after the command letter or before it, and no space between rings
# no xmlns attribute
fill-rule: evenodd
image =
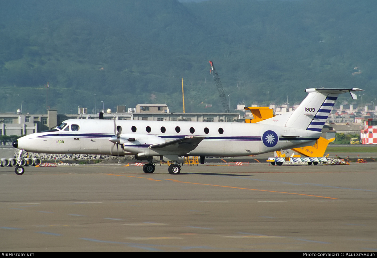
<svg viewBox="0 0 377 258"><path fill-rule="evenodd" d="M0 167L0 250L375 252L376 168Z"/></svg>

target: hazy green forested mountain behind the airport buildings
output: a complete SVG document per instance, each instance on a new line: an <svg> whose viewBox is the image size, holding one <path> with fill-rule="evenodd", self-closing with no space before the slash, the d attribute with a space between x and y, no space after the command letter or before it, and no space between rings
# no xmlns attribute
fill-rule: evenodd
<svg viewBox="0 0 377 258"><path fill-rule="evenodd" d="M0 112L22 100L24 112L92 110L93 94L97 109L103 100L180 112L182 77L187 112L219 112L208 60L233 108L293 103L313 87L362 88L367 103L375 17L372 0L1 1Z"/></svg>

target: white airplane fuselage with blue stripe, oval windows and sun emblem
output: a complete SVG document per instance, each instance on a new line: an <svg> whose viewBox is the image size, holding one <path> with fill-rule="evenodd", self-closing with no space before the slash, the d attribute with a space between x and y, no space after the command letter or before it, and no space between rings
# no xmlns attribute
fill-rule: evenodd
<svg viewBox="0 0 377 258"><path fill-rule="evenodd" d="M120 137L133 139L122 148L109 141L119 126ZM148 150L160 155L148 147L185 136L205 138L184 155L235 157L312 145L320 132L259 123L70 119L56 129L21 137L14 146L57 154L135 155Z"/></svg>

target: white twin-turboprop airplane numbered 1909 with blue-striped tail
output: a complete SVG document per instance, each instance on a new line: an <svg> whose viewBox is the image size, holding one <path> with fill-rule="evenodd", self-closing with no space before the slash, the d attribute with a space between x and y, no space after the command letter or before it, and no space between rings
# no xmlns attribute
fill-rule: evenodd
<svg viewBox="0 0 377 258"><path fill-rule="evenodd" d="M136 120L69 119L54 129L26 135L13 142L20 149L15 173L21 175L23 151L55 154L135 155L148 160L143 171L153 173L153 156L175 161L180 156L236 157L313 145L339 94L362 89L306 89L308 96L292 112L258 123L216 123ZM119 149L119 146L121 149Z"/></svg>

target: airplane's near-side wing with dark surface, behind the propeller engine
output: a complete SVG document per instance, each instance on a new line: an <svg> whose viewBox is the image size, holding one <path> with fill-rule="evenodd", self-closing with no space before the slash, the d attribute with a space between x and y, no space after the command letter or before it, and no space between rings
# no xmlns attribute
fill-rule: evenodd
<svg viewBox="0 0 377 258"><path fill-rule="evenodd" d="M167 141L166 143L152 144L149 149L178 151L185 153L194 150L198 144L204 140L205 137L200 136L185 136L176 140Z"/></svg>

